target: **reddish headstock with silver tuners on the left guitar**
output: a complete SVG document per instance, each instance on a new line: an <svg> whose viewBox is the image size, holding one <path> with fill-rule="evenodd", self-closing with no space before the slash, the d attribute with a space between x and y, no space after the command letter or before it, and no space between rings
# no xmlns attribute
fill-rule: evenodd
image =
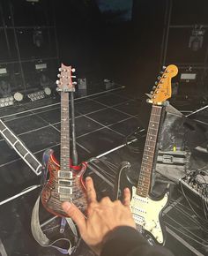
<svg viewBox="0 0 208 256"><path fill-rule="evenodd" d="M75 72L75 69L71 68L71 66L66 66L64 64L59 68L60 74L57 75L59 80L56 80L57 91L61 92L74 92L75 85L77 82L73 82L72 78L76 78L76 76L72 76L72 72Z"/></svg>

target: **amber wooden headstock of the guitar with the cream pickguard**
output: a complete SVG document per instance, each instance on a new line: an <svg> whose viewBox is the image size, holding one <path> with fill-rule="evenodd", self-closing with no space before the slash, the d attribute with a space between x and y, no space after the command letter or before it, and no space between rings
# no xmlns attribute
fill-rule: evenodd
<svg viewBox="0 0 208 256"><path fill-rule="evenodd" d="M174 64L170 64L163 68L160 72L158 81L155 82L155 86L152 87L150 102L154 105L162 105L168 98L171 97L171 79L178 73L178 68Z"/></svg>

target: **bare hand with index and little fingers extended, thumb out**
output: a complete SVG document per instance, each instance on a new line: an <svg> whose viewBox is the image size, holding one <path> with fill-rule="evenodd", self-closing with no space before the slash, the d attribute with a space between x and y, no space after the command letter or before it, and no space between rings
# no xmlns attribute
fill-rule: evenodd
<svg viewBox="0 0 208 256"><path fill-rule="evenodd" d="M78 207L69 202L63 203L63 210L77 224L80 236L91 247L93 252L100 255L103 244L110 231L119 226L136 228L130 213L130 189L124 189L123 203L120 200L111 201L108 197L97 201L93 179L86 177L87 218Z"/></svg>

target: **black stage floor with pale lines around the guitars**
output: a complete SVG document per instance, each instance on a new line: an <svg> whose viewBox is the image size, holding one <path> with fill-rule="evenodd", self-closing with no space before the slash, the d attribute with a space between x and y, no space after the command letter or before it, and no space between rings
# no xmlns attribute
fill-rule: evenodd
<svg viewBox="0 0 208 256"><path fill-rule="evenodd" d="M138 126L142 126L138 113L141 113L143 98L143 95L135 91L129 92L126 87L118 86L108 91L79 96L75 100L78 162L105 154L100 157L99 163L93 165L92 162L86 171L87 175L94 177L100 197L112 195L116 171L121 162L129 161L132 168L137 169L142 152L131 152L129 147L125 147L125 142L130 133L136 131ZM193 113L190 118L197 119L198 123L207 127L208 109L201 105L201 102L193 104L193 102L175 101L175 107L183 114ZM200 108L203 110L197 111ZM143 114L148 119L148 110ZM59 157L59 97L0 109L0 118L39 161L47 148L54 149ZM4 139L0 140L0 156L0 252L2 255L11 256L62 255L55 249L42 248L34 241L31 234L30 219L34 202L40 192L40 177L33 173ZM182 201L184 197L178 192L177 185L174 195L175 197L171 199L173 205L164 214L169 230L167 247L175 252L175 255L205 255L204 239L208 230L200 230L201 225L193 219L189 204ZM179 200L181 197L182 200ZM184 208L182 209L181 206ZM177 213L178 209L180 213ZM52 215L44 213L41 221L45 222L51 217ZM184 220L187 221L186 230L182 230ZM59 222L58 218L56 222L48 222L45 231L49 230L53 233ZM189 230L188 226L193 230ZM197 235L193 235L194 229L197 229ZM191 244L191 239L195 244ZM80 248L76 255L92 255L85 245L80 245Z"/></svg>

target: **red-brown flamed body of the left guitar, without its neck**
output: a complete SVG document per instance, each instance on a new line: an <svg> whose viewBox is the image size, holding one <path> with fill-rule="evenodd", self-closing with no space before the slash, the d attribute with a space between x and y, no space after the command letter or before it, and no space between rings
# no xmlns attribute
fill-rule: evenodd
<svg viewBox="0 0 208 256"><path fill-rule="evenodd" d="M85 165L78 171L71 168L70 172L64 173L64 177L60 177L60 174L62 175L63 172L60 172L60 165L56 161L53 150L50 150L48 162L45 165L49 172L49 179L41 192L42 205L52 215L67 217L63 212L62 203L69 201L85 213L85 183L83 182Z"/></svg>

